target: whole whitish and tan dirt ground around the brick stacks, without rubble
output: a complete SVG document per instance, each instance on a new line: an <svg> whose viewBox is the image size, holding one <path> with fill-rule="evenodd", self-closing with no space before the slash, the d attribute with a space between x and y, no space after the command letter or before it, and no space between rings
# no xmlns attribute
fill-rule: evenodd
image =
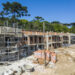
<svg viewBox="0 0 75 75"><path fill-rule="evenodd" d="M58 48L54 50L57 55L57 62L55 64L48 64L46 67L44 64L34 64L34 56L28 56L22 60L15 61L9 66L0 66L0 75L5 70L23 64L32 65L35 69L34 72L25 72L21 75L75 75L75 45L68 48ZM17 75L17 74L16 74Z"/></svg>

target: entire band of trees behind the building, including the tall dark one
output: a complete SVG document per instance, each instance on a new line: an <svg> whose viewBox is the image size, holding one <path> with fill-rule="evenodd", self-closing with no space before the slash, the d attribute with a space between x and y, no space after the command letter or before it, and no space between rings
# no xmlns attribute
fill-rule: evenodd
<svg viewBox="0 0 75 75"><path fill-rule="evenodd" d="M75 33L75 22L49 22L41 16L35 16L32 21L28 21L26 19L22 19L23 16L30 16L27 6L23 6L18 2L6 2L2 5L3 10L0 11L0 25L4 25L5 21L8 21L9 26L12 26L13 23L18 22L18 25L22 26L25 30L43 31L44 23L45 31Z"/></svg>

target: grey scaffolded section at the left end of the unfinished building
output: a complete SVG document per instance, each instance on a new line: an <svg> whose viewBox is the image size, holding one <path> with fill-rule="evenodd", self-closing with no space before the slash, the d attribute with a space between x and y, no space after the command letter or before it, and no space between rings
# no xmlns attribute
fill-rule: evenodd
<svg viewBox="0 0 75 75"><path fill-rule="evenodd" d="M14 27L15 26L15 27ZM13 27L2 26L0 33L0 63L19 60L26 56L26 48L22 45L22 28L18 24ZM11 30L12 29L12 30Z"/></svg>

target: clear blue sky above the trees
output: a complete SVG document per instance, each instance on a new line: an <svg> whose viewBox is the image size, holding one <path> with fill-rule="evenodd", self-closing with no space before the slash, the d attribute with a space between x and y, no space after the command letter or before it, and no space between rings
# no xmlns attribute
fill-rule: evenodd
<svg viewBox="0 0 75 75"><path fill-rule="evenodd" d="M28 7L30 17L23 17L31 21L35 16L41 16L46 21L59 21L61 23L75 22L75 0L0 0L0 11L2 3L20 2Z"/></svg>

